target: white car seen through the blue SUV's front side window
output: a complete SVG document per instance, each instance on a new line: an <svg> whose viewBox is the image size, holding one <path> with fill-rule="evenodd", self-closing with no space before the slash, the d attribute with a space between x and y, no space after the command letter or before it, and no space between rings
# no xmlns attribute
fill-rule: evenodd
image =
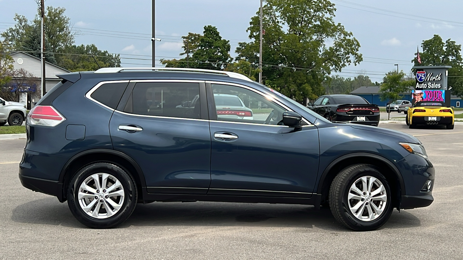
<svg viewBox="0 0 463 260"><path fill-rule="evenodd" d="M214 94L217 118L237 118L253 120L252 110L247 108L243 100L236 95Z"/></svg>

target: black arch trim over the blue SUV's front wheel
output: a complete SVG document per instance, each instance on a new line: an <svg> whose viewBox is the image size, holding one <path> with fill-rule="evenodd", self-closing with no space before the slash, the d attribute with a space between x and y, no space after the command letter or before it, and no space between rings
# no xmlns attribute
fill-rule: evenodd
<svg viewBox="0 0 463 260"><path fill-rule="evenodd" d="M382 161L384 163L386 163L391 169L393 169L394 171L394 174L396 175L397 179L399 180L399 183L400 183L400 192L402 194L406 194L405 193L405 184L404 184L404 180L402 178L402 175L400 174L400 171L397 167L395 167L394 163L392 163L391 161L389 161L388 159L380 156L380 155L375 155L375 154L369 154L369 153L353 153L353 154L348 154L348 155L343 155L341 157L338 157L336 158L334 161L332 161L328 167L325 168L325 170L323 171L321 177L320 177L320 180L319 180L319 184L318 184L318 187L317 187L317 193L318 194L321 194L323 191L323 183L325 182L325 178L326 176L328 175L328 173L331 171L331 169L336 165L338 164L338 162L340 161L343 161L345 159L349 159L349 158L352 158L352 157L369 157L369 158L373 158L373 159L376 159L376 160L379 160L379 161Z"/></svg>

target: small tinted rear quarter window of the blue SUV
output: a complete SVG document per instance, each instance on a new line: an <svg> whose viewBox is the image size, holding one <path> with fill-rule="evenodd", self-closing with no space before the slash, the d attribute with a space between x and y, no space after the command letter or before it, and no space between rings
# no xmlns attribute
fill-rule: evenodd
<svg viewBox="0 0 463 260"><path fill-rule="evenodd" d="M100 102L101 104L109 106L112 109L116 109L120 98L125 91L125 87L127 87L128 84L129 83L127 82L103 84L97 88L94 93L90 95L90 97Z"/></svg>

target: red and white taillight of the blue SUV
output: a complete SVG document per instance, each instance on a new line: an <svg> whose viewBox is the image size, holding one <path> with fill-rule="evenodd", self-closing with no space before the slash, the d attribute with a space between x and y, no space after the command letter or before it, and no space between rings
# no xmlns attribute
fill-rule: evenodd
<svg viewBox="0 0 463 260"><path fill-rule="evenodd" d="M27 115L27 123L30 125L56 126L66 120L51 105L36 105Z"/></svg>

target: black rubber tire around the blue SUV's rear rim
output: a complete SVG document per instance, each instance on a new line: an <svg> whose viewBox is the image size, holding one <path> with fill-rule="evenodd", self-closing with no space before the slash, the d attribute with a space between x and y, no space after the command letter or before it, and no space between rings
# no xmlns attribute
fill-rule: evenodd
<svg viewBox="0 0 463 260"><path fill-rule="evenodd" d="M95 173L108 173L119 180L124 188L124 201L120 209L111 217L96 218L89 216L82 208L78 199L78 192L82 182ZM79 190L77 190L79 191ZM137 204L137 185L132 176L127 171L115 164L109 162L95 162L82 167L75 173L69 182L67 191L68 206L74 217L82 224L95 229L109 229L118 226L124 222L130 215Z"/></svg>

